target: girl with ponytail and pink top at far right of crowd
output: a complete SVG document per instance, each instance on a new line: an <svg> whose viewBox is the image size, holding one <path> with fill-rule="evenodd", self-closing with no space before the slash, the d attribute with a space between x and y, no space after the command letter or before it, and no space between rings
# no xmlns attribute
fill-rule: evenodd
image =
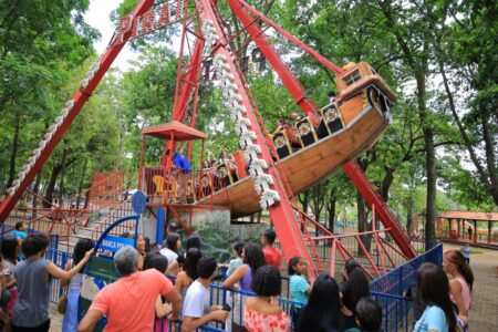
<svg viewBox="0 0 498 332"><path fill-rule="evenodd" d="M464 255L457 250L448 250L443 257L443 268L453 278L449 281L449 295L458 309L458 315L468 317L470 309L470 292L474 284L474 273L465 260Z"/></svg>

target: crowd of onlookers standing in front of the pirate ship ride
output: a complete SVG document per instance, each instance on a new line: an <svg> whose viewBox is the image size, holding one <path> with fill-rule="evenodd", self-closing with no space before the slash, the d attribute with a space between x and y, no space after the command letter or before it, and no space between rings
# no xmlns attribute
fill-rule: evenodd
<svg viewBox="0 0 498 332"><path fill-rule="evenodd" d="M52 277L66 289L64 332L92 331L104 315L105 331L195 331L210 322L228 331L382 331L382 309L371 299L370 280L354 259L345 262L343 280L338 282L329 274L312 278L303 258L290 258L292 305L283 311L278 301L283 261L273 229L261 235L260 243L236 241L234 258L227 263L203 255L196 235L186 240L185 251L173 229L160 247L139 235L135 248L124 247L114 255L121 278L98 291L79 321L81 272L94 243L80 239L72 259L61 269L45 259L46 235L21 232L25 235L22 222L13 231L17 236L0 245L4 331L49 331ZM211 299L210 286L220 268L226 271L222 288L237 291L228 292L225 305L212 305L219 299ZM460 251L446 251L443 267L422 264L412 290L419 309L414 312L414 331L466 331L473 284L473 271Z"/></svg>

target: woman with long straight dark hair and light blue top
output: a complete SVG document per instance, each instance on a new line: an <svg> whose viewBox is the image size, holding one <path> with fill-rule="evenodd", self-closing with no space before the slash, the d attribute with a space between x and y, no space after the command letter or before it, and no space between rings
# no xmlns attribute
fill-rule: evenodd
<svg viewBox="0 0 498 332"><path fill-rule="evenodd" d="M449 299L448 277L433 263L423 263L417 271L417 297L426 305L414 331L455 332L456 315Z"/></svg>

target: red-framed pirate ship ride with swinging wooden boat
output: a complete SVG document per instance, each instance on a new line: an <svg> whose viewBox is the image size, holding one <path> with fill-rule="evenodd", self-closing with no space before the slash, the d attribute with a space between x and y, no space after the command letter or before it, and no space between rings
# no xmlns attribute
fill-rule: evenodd
<svg viewBox="0 0 498 332"><path fill-rule="evenodd" d="M383 79L364 62L344 69L334 65L242 0L227 1L234 17L241 22L240 31L232 33L225 29L216 1L194 2L195 6L189 7L185 6L188 1L141 0L131 14L121 19L106 52L92 66L80 91L68 102L39 147L33 151L18 179L9 188L0 205L0 221L4 222L8 219L124 44L155 29L181 22L173 122L143 132L144 136L167 141L165 151L169 152L164 154L165 160L162 165L158 163L158 166L146 167L141 164L139 189L148 196L149 210L155 211L157 207L165 207L174 211L175 206L179 204L184 208L222 206L230 210L232 218L251 215L261 209L268 210L284 257L305 258L311 263L311 272L323 270L324 260L329 260L333 274L335 249L344 260L353 253L347 251L341 241L335 241L336 238L330 230L303 214L294 195L342 166L390 231L400 252L405 258L415 257L416 252L409 243L406 231L354 163L362 152L381 137L391 122L394 95ZM260 24L267 27L262 28ZM307 97L305 89L271 45L266 33L267 29L272 29L274 33L279 33L314 58L323 68L335 73L339 95L333 103L320 108ZM295 127L282 129L272 138L269 138L252 100L250 86L245 81L241 62L238 59L241 50L231 45L232 39L241 33L250 40L242 49L251 43L259 48L297 105L305 113L305 116L294 124ZM236 122L241 148L235 154L234 162L237 167L221 160L216 175L205 169L185 172L174 167L177 142L206 138L204 133L195 129L199 86L203 83L201 69L206 60L212 62L224 106ZM190 152L191 149L188 155ZM181 201L178 201L179 198L183 198ZM92 205L87 205L85 211L62 211L60 208L55 210L66 212L62 214L63 219L72 218L72 224L68 221L70 232L75 226L80 226L79 224L87 226L89 221L83 217L91 215L91 209ZM39 220L48 216L35 214L38 212L33 212L35 218L31 219ZM110 215L108 219L112 219L112 216L117 217ZM321 232L320 239L310 235L309 227ZM362 246L359 236L354 237L359 246ZM317 241L324 240L333 240L332 253L325 258L318 253L315 246ZM363 255L370 257L366 251ZM373 263L372 269L380 274Z"/></svg>

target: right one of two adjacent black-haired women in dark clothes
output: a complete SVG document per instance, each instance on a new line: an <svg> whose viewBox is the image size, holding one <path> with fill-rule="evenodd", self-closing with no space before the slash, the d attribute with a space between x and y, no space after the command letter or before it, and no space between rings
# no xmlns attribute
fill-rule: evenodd
<svg viewBox="0 0 498 332"><path fill-rule="evenodd" d="M339 320L339 330L341 331L357 328L354 309L361 298L370 295L369 279L354 259L346 260L343 278L345 281L340 286L343 304Z"/></svg>

